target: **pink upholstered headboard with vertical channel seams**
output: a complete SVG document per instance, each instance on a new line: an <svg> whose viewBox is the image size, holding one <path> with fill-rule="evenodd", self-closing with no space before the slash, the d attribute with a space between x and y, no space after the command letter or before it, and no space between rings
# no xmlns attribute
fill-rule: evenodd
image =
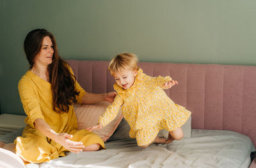
<svg viewBox="0 0 256 168"><path fill-rule="evenodd" d="M77 81L93 93L113 91L108 61L68 60ZM165 90L192 112L193 129L234 130L256 146L256 66L140 62L150 76L171 76L179 85Z"/></svg>

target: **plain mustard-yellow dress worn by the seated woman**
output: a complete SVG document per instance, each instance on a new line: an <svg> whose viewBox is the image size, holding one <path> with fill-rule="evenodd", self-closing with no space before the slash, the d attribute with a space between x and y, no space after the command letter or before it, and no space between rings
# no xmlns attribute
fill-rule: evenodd
<svg viewBox="0 0 256 168"><path fill-rule="evenodd" d="M74 74L71 68L70 72ZM82 104L82 97L86 92L77 81L76 90L79 92L77 102ZM88 130L77 130L74 106L69 106L68 113L53 111L51 83L28 71L19 81L19 94L24 111L28 115L25 120L27 126L22 132L22 137L17 137L14 143L17 155L24 160L31 163L47 162L65 156L67 151L35 129L33 123L36 118L42 118L57 133L72 134L72 141L83 142L84 146L99 143L104 148L104 142L99 136Z"/></svg>

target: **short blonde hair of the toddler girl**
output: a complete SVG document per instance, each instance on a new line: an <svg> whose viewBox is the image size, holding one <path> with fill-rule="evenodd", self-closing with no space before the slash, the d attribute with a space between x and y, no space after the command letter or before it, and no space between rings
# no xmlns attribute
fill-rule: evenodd
<svg viewBox="0 0 256 168"><path fill-rule="evenodd" d="M111 75L113 75L115 72L123 71L124 69L138 70L138 61L137 55L133 53L120 53L111 59L108 70L110 71Z"/></svg>

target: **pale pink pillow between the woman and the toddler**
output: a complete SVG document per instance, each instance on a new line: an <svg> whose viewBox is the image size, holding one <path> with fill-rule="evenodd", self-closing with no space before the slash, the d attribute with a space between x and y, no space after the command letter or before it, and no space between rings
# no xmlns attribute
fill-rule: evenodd
<svg viewBox="0 0 256 168"><path fill-rule="evenodd" d="M84 104L84 105L75 105L74 110L77 116L77 126L78 129L87 129L97 125L100 115L102 115L106 108L109 106L109 102L98 102L95 104ZM107 141L109 137L115 132L116 127L121 122L123 118L122 111L118 112L116 118L110 122L108 125L102 129L93 130L95 134L102 138L103 141Z"/></svg>

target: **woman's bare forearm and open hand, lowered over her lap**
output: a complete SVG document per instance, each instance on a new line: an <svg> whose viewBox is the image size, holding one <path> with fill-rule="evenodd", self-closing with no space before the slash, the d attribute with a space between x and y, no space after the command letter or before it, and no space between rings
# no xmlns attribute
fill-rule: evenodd
<svg viewBox="0 0 256 168"><path fill-rule="evenodd" d="M67 133L56 133L51 127L44 121L42 118L37 118L34 122L35 128L39 130L44 136L49 137L53 141L58 144L61 144L67 150L79 153L79 151L83 151L83 143L71 141L70 139L73 137L71 134Z"/></svg>

